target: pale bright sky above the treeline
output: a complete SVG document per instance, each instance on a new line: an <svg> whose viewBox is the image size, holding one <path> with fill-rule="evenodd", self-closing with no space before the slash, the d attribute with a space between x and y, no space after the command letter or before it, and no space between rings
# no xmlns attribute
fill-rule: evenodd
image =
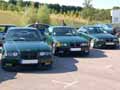
<svg viewBox="0 0 120 90"><path fill-rule="evenodd" d="M58 3L60 5L73 5L83 6L84 0L25 0L25 1L37 1L41 3ZM120 0L93 0L93 7L100 9L112 9L114 6L120 6Z"/></svg>

